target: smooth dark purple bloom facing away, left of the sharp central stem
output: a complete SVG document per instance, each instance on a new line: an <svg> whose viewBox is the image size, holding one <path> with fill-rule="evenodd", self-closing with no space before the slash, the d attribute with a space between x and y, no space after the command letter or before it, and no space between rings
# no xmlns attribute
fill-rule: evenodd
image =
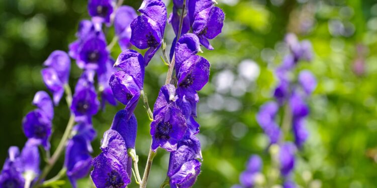
<svg viewBox="0 0 377 188"><path fill-rule="evenodd" d="M119 132L126 143L127 149L135 148L137 120L134 114L129 114L127 110L118 111L114 116L110 129Z"/></svg>

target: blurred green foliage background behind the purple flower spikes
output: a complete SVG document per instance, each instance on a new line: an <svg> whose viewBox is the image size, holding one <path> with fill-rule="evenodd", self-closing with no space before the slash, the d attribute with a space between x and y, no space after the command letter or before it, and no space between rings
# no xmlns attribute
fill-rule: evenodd
<svg viewBox="0 0 377 188"><path fill-rule="evenodd" d="M167 2L168 12L171 3ZM40 75L42 63L53 50L67 51L75 40L81 19L89 19L85 0L0 1L0 163L11 145L23 147L23 116L34 107L36 91L46 90ZM251 154L264 160L269 172L267 138L255 121L258 108L271 99L276 84L273 69L280 63L281 42L288 32L312 42L315 58L302 63L319 85L310 99L310 137L298 154L294 179L302 187L377 187L377 2L355 0L224 0L223 33L212 40L214 51L202 54L211 62L211 82L200 92L198 121L201 124L204 161L194 187L230 187L238 183ZM141 0L125 1L137 9ZM108 41L113 29L105 31ZM167 25L165 40L171 43ZM113 58L120 53L119 47ZM160 55L160 52L157 54ZM153 105L167 67L159 57L146 68L145 91ZM244 66L249 69L244 69ZM248 75L245 70L249 71ZM72 61L70 86L81 70ZM93 155L114 114L123 108L107 106L93 118L98 137ZM136 149L143 171L150 146L149 120L141 103L137 107L139 129ZM53 120L54 150L68 121L62 100ZM162 149L154 159L149 186L165 178L169 154ZM63 157L48 177L63 165ZM65 179L67 180L67 179ZM88 179L79 181L87 187ZM69 183L63 187L70 187ZM133 183L129 187L136 187Z"/></svg>

